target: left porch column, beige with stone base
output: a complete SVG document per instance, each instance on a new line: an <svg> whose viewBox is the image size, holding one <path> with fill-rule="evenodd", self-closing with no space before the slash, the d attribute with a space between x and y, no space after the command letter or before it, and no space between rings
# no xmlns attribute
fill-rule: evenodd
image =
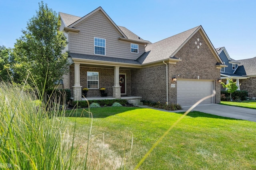
<svg viewBox="0 0 256 170"><path fill-rule="evenodd" d="M80 64L74 63L74 86L73 97L74 101L82 100L82 86L80 85Z"/></svg>

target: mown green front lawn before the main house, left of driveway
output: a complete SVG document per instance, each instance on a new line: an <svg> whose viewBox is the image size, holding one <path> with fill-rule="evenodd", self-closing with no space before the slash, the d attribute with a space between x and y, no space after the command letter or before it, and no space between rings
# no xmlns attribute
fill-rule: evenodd
<svg viewBox="0 0 256 170"><path fill-rule="evenodd" d="M78 109L80 116L83 109ZM70 112L70 111L69 111ZM91 109L92 136L89 142L88 169L134 169L154 143L181 116L138 107ZM91 118L76 121L76 141L80 153L86 152L86 132ZM191 112L154 148L139 169L256 169L256 123ZM132 151L130 152L132 148Z"/></svg>

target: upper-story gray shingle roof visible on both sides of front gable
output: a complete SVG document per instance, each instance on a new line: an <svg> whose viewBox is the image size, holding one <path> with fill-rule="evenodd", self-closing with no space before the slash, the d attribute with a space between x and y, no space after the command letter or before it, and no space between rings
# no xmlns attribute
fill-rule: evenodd
<svg viewBox="0 0 256 170"><path fill-rule="evenodd" d="M60 17L62 18L63 22L65 23L65 25L67 27L70 26L71 24L73 24L74 22L76 22L77 20L81 19L81 17L79 17L79 16L65 14L65 13L62 13L62 12L59 12L59 15L60 15ZM128 30L125 27L118 26L118 28L130 40L136 40L136 41L140 41L140 42L151 43L151 42L149 42L147 40L143 40L142 38L139 39L139 36L137 36L136 34L134 34L133 32L131 32L130 30Z"/></svg>

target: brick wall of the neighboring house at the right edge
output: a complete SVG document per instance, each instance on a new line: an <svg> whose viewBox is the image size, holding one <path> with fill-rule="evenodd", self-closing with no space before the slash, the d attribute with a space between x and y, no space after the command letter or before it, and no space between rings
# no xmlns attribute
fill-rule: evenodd
<svg viewBox="0 0 256 170"><path fill-rule="evenodd" d="M248 91L249 97L256 97L256 77L250 77L249 79L239 80L240 90Z"/></svg>

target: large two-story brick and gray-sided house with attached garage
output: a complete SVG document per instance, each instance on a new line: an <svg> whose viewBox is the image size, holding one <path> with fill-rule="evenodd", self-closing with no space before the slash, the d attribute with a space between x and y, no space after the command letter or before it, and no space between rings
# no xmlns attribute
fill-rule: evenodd
<svg viewBox="0 0 256 170"><path fill-rule="evenodd" d="M215 90L216 95L202 103L220 103L218 78L225 65L202 26L150 43L117 26L101 7L82 18L59 15L70 55L70 73L63 84L74 100L81 100L84 87L88 97L100 96L99 89L105 87L108 96L117 99L140 96L182 106Z"/></svg>

